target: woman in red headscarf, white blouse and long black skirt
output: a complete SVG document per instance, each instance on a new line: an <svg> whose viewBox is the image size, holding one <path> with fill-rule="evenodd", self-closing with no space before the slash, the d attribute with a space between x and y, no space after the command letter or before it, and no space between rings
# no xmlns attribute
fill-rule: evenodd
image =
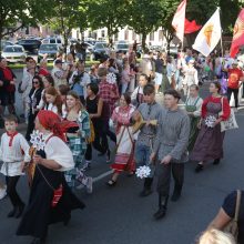
<svg viewBox="0 0 244 244"><path fill-rule="evenodd" d="M71 126L74 126L72 122L61 122L52 111L41 110L37 115L35 130L43 134L42 143L33 142L32 138L33 145L39 148L33 155L35 167L29 205L17 231L17 235L33 236L31 243L44 243L49 224L68 224L71 210L84 207L63 175L74 167L72 153L64 142L64 132Z"/></svg>

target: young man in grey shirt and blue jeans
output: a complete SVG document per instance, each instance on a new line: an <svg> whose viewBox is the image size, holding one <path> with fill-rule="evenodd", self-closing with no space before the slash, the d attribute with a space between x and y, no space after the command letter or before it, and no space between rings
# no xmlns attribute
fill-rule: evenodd
<svg viewBox="0 0 244 244"><path fill-rule="evenodd" d="M138 112L134 113L134 120L141 114L144 121L148 123L141 129L138 141L135 144L135 161L136 164L149 165L151 167L151 174L145 179L143 191L141 196L148 196L152 193L151 185L154 175L154 165L150 163L150 155L152 153L153 143L155 140L157 126L150 123L151 120L159 120L162 106L155 102L155 89L153 84L146 84L143 89L144 103L138 108Z"/></svg>

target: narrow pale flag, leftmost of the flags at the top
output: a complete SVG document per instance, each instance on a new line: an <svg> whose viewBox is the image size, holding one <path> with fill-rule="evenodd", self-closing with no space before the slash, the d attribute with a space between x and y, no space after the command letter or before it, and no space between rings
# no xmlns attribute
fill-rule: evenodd
<svg viewBox="0 0 244 244"><path fill-rule="evenodd" d="M174 13L174 18L172 21L172 27L176 31L176 37L183 42L184 39L184 26L185 26L185 8L186 0L183 0L177 7L176 12Z"/></svg>

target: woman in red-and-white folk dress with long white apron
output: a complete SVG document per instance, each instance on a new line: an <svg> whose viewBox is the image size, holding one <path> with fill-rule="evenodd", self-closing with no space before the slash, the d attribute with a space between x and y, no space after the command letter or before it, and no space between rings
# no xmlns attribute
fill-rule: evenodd
<svg viewBox="0 0 244 244"><path fill-rule="evenodd" d="M112 114L113 122L116 123L116 154L114 163L111 165L114 173L112 179L108 182L109 186L116 183L118 176L121 172L128 170L131 174L135 171L134 162L134 138L130 126L130 120L135 111L131 105L131 98L129 93L124 93L120 99L120 106L118 106Z"/></svg>

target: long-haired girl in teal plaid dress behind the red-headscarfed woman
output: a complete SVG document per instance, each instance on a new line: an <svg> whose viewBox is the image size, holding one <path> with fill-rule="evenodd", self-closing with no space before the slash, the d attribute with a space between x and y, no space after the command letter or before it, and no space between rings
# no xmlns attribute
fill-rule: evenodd
<svg viewBox="0 0 244 244"><path fill-rule="evenodd" d="M73 126L67 133L75 165L73 170L65 172L65 179L70 187L74 187L75 180L78 180L91 193L92 177L88 177L84 174L87 165L82 164L87 151L87 140L90 136L89 113L81 104L80 98L74 91L70 91L67 95L67 110L65 119L75 122L77 126Z"/></svg>

